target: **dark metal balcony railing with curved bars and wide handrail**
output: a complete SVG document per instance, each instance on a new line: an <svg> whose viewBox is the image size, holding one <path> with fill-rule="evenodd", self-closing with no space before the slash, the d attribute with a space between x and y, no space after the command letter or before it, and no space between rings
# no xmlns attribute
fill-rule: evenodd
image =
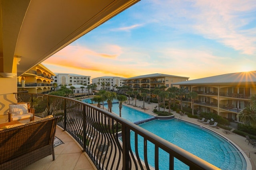
<svg viewBox="0 0 256 170"><path fill-rule="evenodd" d="M154 166L158 170L159 149L168 153L165 161L169 162L167 168L170 170L174 169L174 158L184 162L190 170L218 169L134 123L98 107L44 94L16 93L16 98L18 102L31 102L31 107L36 109L36 116L63 115L58 125L72 135L98 169L150 169L150 166ZM134 132L135 151L131 149L131 131ZM144 162L138 154L138 135L144 139ZM154 162L150 164L147 161L148 143L154 145L155 155Z"/></svg>

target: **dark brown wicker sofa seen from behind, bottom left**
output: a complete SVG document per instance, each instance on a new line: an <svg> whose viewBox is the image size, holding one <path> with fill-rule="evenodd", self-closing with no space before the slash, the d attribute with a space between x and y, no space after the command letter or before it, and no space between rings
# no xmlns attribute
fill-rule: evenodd
<svg viewBox="0 0 256 170"><path fill-rule="evenodd" d="M0 170L20 170L48 155L54 156L59 117L26 123L0 131Z"/></svg>

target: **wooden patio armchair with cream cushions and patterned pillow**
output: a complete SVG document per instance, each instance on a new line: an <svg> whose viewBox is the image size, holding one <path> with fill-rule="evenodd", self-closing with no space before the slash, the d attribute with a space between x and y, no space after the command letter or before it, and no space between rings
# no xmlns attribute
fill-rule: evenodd
<svg viewBox="0 0 256 170"><path fill-rule="evenodd" d="M33 121L35 118L35 109L30 108L30 102L23 102L9 105L8 121L19 121L30 119Z"/></svg>

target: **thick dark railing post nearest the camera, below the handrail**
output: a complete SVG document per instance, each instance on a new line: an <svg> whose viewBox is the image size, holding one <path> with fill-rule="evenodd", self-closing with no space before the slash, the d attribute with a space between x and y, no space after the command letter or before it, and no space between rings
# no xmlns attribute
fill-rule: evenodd
<svg viewBox="0 0 256 170"><path fill-rule="evenodd" d="M123 141L123 168L122 170L129 169L129 143L130 143L130 129L122 124L122 141Z"/></svg>

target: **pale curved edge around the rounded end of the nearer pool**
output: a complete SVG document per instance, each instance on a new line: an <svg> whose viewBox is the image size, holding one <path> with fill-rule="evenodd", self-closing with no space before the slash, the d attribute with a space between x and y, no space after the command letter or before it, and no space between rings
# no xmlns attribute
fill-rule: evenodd
<svg viewBox="0 0 256 170"><path fill-rule="evenodd" d="M175 119L178 119L178 118L175 117ZM248 156L245 154L246 151L242 150L238 145L236 145L236 143L234 143L233 141L231 141L230 139L228 139L224 135L222 135L222 134L220 134L220 133L218 133L216 131L213 131L212 129L210 129L210 128L206 127L206 126L202 126L201 124L194 123L194 122L191 122L191 121L188 121L188 120L184 120L184 119L178 119L178 120L186 121L188 123L192 123L192 124L197 125L199 127L205 128L205 129L207 129L207 130L209 130L209 131L211 131L211 132L221 136L222 138L224 138L228 142L232 143L232 145L234 145L234 147L236 147L240 151L240 153L244 156L244 159L246 161L246 170L252 170L252 163L250 162L250 159L248 158Z"/></svg>

